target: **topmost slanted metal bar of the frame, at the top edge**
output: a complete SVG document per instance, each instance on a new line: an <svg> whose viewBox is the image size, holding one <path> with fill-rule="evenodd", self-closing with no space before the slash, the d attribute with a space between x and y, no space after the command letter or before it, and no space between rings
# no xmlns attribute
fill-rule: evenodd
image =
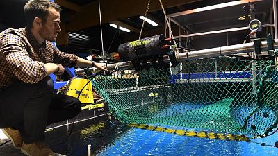
<svg viewBox="0 0 278 156"><path fill-rule="evenodd" d="M181 15L189 15L189 14L193 14L193 13L197 13L197 12L215 10L215 9L218 9L218 8L226 8L226 7L229 7L229 6L237 6L237 5L245 4L245 3L249 3L249 2L253 3L253 2L256 2L256 1L263 1L263 0L231 1L231 2L228 2L228 3L220 3L220 4L213 5L213 6L206 6L206 7L202 7L202 8L193 9L193 10L177 12L177 13L167 15L167 17L177 17L177 16L181 16Z"/></svg>

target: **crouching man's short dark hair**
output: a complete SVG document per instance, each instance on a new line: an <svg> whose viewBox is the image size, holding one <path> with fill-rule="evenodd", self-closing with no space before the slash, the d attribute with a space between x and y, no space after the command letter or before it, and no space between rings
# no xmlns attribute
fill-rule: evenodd
<svg viewBox="0 0 278 156"><path fill-rule="evenodd" d="M56 11L62 11L62 8L57 3L49 0L31 0L24 6L24 15L27 28L33 28L35 17L39 17L44 22L47 19L49 8L54 8Z"/></svg>

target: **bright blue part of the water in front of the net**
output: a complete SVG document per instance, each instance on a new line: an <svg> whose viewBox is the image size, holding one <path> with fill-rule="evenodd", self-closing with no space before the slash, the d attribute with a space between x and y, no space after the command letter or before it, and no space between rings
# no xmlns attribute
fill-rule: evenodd
<svg viewBox="0 0 278 156"><path fill-rule="evenodd" d="M278 134L255 141L274 145ZM132 128L97 155L278 155L278 148Z"/></svg>

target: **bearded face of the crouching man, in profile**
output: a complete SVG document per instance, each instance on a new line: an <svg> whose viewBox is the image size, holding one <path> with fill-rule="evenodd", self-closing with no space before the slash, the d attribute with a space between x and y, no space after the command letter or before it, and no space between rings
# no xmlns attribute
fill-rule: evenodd
<svg viewBox="0 0 278 156"><path fill-rule="evenodd" d="M60 12L56 11L54 8L49 8L49 15L42 24L42 28L39 30L40 37L51 42L56 41L56 37L61 31L59 24Z"/></svg>

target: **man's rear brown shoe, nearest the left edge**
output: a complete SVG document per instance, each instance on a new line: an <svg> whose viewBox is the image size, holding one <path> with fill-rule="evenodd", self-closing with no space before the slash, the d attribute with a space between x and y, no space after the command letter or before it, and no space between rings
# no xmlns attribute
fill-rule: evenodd
<svg viewBox="0 0 278 156"><path fill-rule="evenodd" d="M13 142L15 149L20 149L22 147L22 135L18 130L13 128L3 128L2 131Z"/></svg>

